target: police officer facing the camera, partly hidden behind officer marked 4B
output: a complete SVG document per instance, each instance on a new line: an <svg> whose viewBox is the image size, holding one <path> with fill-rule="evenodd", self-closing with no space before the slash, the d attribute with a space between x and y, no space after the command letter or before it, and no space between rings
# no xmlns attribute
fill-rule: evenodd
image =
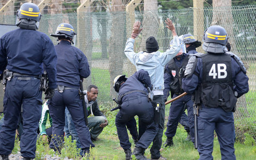
<svg viewBox="0 0 256 160"><path fill-rule="evenodd" d="M170 43L170 46L172 46L172 41ZM185 77L184 72L189 59L189 55L184 52L186 51L183 51L181 49L179 53L165 66L165 73L164 73L164 99L165 100L167 100L167 98L169 97L170 91L171 91L172 98L175 98L184 92L181 88L181 83L182 83L182 78ZM185 106L188 108L189 119L184 111ZM185 125L185 130L188 132L188 135L190 134L190 130L193 131L194 129L193 127L194 121L192 121L193 117L194 117L193 101L191 100L191 94L187 94L184 97L172 102L170 107L170 112L169 112L169 118L167 122L167 129L165 132L167 139L166 139L166 142L164 143L164 147L173 145L173 137L176 133L179 121L180 123ZM189 121L192 121L192 122L189 122ZM194 134L192 133L193 132L191 132L191 135L192 135L191 137L193 138Z"/></svg>

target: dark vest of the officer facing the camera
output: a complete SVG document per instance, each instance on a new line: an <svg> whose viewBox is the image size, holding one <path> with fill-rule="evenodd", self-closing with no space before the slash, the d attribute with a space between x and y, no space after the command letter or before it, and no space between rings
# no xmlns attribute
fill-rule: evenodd
<svg viewBox="0 0 256 160"><path fill-rule="evenodd" d="M170 83L170 89L171 89L171 97L173 94L181 94L184 91L182 90L182 78L185 78L185 69L188 64L188 55L183 59L183 62L180 67L178 67L175 64L174 59L172 59L168 63L168 69L169 69L169 74L173 76L173 81Z"/></svg>

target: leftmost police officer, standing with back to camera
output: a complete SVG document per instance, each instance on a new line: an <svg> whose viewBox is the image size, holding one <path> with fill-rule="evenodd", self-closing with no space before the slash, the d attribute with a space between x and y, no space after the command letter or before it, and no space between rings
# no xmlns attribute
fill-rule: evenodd
<svg viewBox="0 0 256 160"><path fill-rule="evenodd" d="M9 159L14 147L15 130L23 108L23 134L20 152L24 159L35 158L36 139L42 111L42 91L39 91L43 65L49 77L46 98L51 98L56 85L57 56L51 39L39 32L39 8L24 3L17 11L19 29L6 33L0 39L0 73L7 66L4 95L4 125L0 132L0 155Z"/></svg>

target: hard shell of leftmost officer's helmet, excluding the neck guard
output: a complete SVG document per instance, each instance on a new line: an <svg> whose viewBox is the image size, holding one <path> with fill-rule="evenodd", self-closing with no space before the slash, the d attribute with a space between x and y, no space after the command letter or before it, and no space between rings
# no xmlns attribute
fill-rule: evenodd
<svg viewBox="0 0 256 160"><path fill-rule="evenodd" d="M17 11L18 19L28 19L39 22L41 19L41 14L39 13L39 8L34 3L24 3L20 6Z"/></svg>

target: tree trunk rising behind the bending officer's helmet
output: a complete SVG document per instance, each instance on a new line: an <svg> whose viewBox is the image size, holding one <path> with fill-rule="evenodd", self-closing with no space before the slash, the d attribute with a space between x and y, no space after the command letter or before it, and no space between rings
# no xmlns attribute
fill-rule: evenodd
<svg viewBox="0 0 256 160"><path fill-rule="evenodd" d="M125 45L125 7L122 0L112 1L113 8L111 37L109 39L109 74L110 74L110 96L115 97L113 89L114 78L123 74L124 45Z"/></svg>

